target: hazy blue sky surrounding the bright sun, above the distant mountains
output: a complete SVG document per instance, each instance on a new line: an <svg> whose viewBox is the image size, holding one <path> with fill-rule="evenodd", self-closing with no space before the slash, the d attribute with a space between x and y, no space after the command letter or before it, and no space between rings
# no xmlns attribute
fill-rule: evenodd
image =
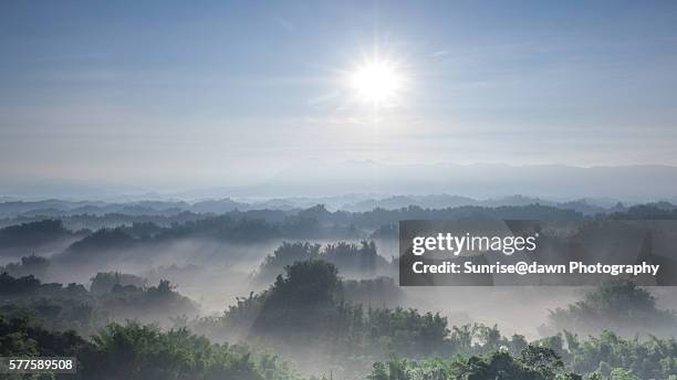
<svg viewBox="0 0 677 380"><path fill-rule="evenodd" d="M378 112L347 76L404 78ZM1 1L0 175L677 165L675 1Z"/></svg>

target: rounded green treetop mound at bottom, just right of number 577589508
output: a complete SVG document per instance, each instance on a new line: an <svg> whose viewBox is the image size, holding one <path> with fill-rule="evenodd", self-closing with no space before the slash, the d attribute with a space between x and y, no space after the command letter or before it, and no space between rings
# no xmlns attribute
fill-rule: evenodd
<svg viewBox="0 0 677 380"><path fill-rule="evenodd" d="M79 377L92 380L233 379L291 380L296 377L271 356L244 347L215 345L186 329L113 324L93 337L79 358Z"/></svg>

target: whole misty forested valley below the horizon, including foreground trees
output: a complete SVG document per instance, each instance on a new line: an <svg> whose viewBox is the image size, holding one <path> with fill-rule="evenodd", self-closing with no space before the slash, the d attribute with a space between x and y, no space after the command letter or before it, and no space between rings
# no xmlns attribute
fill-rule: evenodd
<svg viewBox="0 0 677 380"><path fill-rule="evenodd" d="M398 286L400 220L677 219L506 202L0 203L0 356L79 360L2 377L677 379L673 287Z"/></svg>

